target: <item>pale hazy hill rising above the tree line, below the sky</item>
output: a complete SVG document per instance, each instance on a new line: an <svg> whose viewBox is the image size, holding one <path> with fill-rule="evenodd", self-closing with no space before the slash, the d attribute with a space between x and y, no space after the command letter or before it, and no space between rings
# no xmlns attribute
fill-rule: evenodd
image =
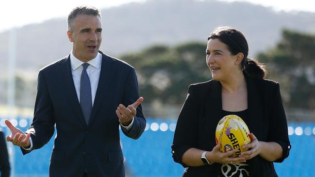
<svg viewBox="0 0 315 177"><path fill-rule="evenodd" d="M315 13L275 12L248 2L148 0L102 9L101 50L119 56L155 44L206 43L216 26L231 25L246 34L249 55L255 57L280 39L283 28L315 33L314 19ZM71 50L66 36L66 16L15 31L17 73L20 75L29 73L33 78L38 69ZM10 46L9 32L0 33L0 63L4 65L7 65ZM6 69L0 72L2 78L6 76Z"/></svg>

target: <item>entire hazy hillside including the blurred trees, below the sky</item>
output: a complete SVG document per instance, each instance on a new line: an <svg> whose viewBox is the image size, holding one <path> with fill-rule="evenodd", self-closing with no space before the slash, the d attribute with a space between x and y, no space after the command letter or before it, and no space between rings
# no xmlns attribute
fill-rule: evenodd
<svg viewBox="0 0 315 177"><path fill-rule="evenodd" d="M136 68L146 113L176 117L188 85L211 78L207 36L231 25L247 36L249 57L261 52L269 79L282 85L285 107L314 110L314 19L315 13L274 12L247 2L148 0L102 10L100 49ZM16 105L32 108L38 70L71 51L66 17L0 33L0 41L0 104L7 100L9 46L16 46L10 48L17 60Z"/></svg>

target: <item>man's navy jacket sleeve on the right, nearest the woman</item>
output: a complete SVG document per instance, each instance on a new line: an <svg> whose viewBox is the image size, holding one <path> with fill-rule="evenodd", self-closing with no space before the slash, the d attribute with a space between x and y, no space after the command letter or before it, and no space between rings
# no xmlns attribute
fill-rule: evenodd
<svg viewBox="0 0 315 177"><path fill-rule="evenodd" d="M128 74L124 95L123 95L123 105L128 106L133 104L139 98L139 87L138 80L135 74L134 68L132 68ZM146 119L142 113L141 104L136 109L137 113L133 118L133 126L128 131L122 129L122 132L132 139L138 139L146 128Z"/></svg>

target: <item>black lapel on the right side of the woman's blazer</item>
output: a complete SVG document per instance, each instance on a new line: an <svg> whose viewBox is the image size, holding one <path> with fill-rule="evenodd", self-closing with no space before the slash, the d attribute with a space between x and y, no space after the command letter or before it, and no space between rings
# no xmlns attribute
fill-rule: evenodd
<svg viewBox="0 0 315 177"><path fill-rule="evenodd" d="M249 130L254 133L254 135L259 140L261 137L262 126L263 126L263 106L262 98L259 96L258 89L254 84L254 80L245 75L247 81L247 100L248 100L248 110L249 119L248 127Z"/></svg>

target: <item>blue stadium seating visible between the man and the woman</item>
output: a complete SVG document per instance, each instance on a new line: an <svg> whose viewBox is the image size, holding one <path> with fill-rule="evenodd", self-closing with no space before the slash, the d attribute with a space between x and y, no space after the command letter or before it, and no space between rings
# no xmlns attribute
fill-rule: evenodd
<svg viewBox="0 0 315 177"><path fill-rule="evenodd" d="M176 123L176 120L148 119L147 123L161 125ZM138 140L132 140L123 134L121 142L126 164L135 177L180 177L183 167L172 159L171 144L174 131L158 129L146 130Z"/></svg>

